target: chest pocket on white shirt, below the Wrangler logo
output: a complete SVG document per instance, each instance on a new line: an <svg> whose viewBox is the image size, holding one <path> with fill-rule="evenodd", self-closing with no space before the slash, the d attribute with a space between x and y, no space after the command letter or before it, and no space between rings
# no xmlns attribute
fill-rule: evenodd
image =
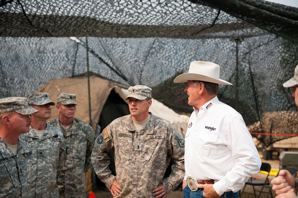
<svg viewBox="0 0 298 198"><path fill-rule="evenodd" d="M201 133L199 135L199 148L196 150L200 155L208 157L217 153L217 135L210 133Z"/></svg>

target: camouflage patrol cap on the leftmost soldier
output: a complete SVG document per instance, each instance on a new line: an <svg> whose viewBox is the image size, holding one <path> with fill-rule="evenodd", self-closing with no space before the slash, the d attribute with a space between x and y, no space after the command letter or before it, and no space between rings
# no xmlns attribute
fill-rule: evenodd
<svg viewBox="0 0 298 198"><path fill-rule="evenodd" d="M23 115L37 113L38 110L30 107L29 102L24 97L8 97L0 99L0 114L15 111Z"/></svg>

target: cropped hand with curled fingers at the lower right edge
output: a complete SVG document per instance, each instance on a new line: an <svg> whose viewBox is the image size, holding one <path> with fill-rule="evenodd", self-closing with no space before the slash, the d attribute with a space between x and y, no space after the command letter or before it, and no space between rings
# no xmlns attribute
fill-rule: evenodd
<svg viewBox="0 0 298 198"><path fill-rule="evenodd" d="M280 170L278 176L271 181L271 184L272 190L274 190L277 195L296 191L296 181L287 170Z"/></svg>

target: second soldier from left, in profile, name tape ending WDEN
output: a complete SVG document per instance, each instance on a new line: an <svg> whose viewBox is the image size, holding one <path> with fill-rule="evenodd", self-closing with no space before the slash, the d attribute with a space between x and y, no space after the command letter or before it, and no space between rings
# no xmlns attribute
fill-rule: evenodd
<svg viewBox="0 0 298 198"><path fill-rule="evenodd" d="M20 135L32 152L30 197L59 197L58 178L63 178L63 164L66 159L66 143L62 132L49 124L51 106L55 102L48 93L30 93L25 96L31 107L39 110L32 114L30 132Z"/></svg>

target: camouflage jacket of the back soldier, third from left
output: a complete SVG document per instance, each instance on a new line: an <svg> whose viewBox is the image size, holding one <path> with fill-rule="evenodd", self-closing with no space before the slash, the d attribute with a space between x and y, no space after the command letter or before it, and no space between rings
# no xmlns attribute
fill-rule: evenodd
<svg viewBox="0 0 298 198"><path fill-rule="evenodd" d="M60 125L59 117L48 124L62 131L68 148L68 158L64 165L65 187L60 188L59 185L60 197L85 197L85 174L92 169L91 153L95 138L93 129L86 122L76 118L73 118L72 126L66 134Z"/></svg>

